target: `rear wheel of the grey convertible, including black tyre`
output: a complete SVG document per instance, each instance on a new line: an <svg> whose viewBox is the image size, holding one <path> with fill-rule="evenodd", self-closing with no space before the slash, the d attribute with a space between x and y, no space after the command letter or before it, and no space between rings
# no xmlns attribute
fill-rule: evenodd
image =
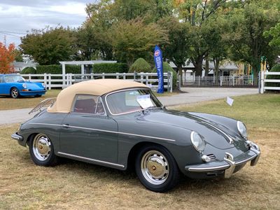
<svg viewBox="0 0 280 210"><path fill-rule="evenodd" d="M45 134L36 134L29 142L29 153L36 165L51 166L57 163L52 142Z"/></svg>

